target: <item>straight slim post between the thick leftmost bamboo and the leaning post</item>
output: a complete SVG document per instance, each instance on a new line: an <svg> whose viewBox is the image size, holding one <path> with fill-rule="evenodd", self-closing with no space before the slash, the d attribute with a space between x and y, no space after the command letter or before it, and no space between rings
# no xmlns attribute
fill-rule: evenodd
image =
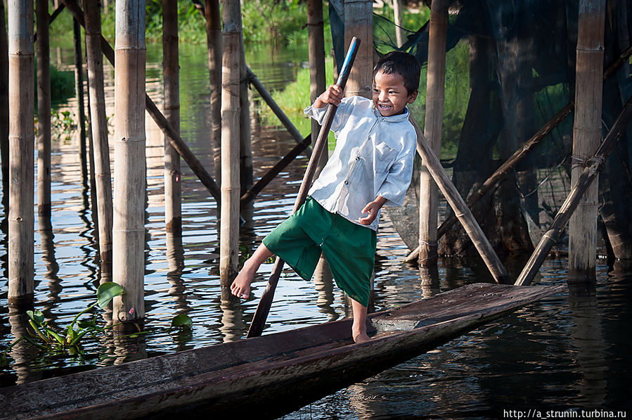
<svg viewBox="0 0 632 420"><path fill-rule="evenodd" d="M37 215L51 219L51 56L49 1L37 0Z"/></svg>

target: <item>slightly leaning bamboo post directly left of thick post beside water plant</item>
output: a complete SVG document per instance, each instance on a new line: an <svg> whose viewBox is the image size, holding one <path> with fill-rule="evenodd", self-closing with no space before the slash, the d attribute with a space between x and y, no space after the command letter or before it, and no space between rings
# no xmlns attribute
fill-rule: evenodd
<svg viewBox="0 0 632 420"><path fill-rule="evenodd" d="M112 273L112 174L108 120L105 117L103 53L101 50L101 7L98 0L84 0L86 56L90 115L91 182L96 187L96 210L101 272Z"/></svg>

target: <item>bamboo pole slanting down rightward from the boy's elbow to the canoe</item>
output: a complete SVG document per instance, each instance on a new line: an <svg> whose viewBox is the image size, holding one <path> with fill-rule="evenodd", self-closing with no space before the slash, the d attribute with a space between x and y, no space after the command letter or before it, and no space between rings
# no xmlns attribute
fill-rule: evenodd
<svg viewBox="0 0 632 420"><path fill-rule="evenodd" d="M465 205L456 187L450 182L444 168L441 167L439 159L434 155L432 148L427 144L425 137L421 133L417 122L415 122L412 117L411 122L417 131L417 153L419 153L427 164L428 171L432 175L434 182L437 183L437 186L439 186L441 193L443 193L450 207L456 214L456 217L458 217L461 224L463 224L463 229L465 229L467 236L470 236L472 243L481 255L489 272L491 272L491 276L494 277L494 280L498 284L506 283L509 276L505 271L505 267L503 267L503 263L498 258L498 255L496 255L496 252L494 252L494 248L491 247L491 244L479 227L474 216L472 216L470 209Z"/></svg>

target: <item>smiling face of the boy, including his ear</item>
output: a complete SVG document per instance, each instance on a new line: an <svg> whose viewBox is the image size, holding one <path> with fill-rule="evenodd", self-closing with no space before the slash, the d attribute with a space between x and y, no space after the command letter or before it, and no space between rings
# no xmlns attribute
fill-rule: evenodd
<svg viewBox="0 0 632 420"><path fill-rule="evenodd" d="M404 77L397 73L387 75L382 70L373 77L373 105L382 117L398 115L404 112L406 104L413 103L417 91L408 94L404 86Z"/></svg>

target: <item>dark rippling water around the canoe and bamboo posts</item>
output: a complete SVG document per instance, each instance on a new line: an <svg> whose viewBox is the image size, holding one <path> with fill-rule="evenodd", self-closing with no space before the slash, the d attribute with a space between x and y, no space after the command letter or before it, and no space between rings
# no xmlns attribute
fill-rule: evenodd
<svg viewBox="0 0 632 420"><path fill-rule="evenodd" d="M148 93L160 103L157 46L148 49ZM65 56L67 54L64 53ZM299 57L299 58L297 58ZM250 68L268 89L292 79L305 51L250 53ZM72 60L72 58L70 58ZM209 152L208 76L202 46L181 46L181 132L200 161L212 168ZM109 77L111 71L106 70ZM106 82L112 113L112 82ZM307 94L306 94L307 101ZM306 102L307 103L307 102ZM74 102L67 104L74 110ZM145 336L127 342L112 338L86 341L86 355L41 355L9 352L0 370L2 385L32 381L61 372L122 363L166 352L200 348L243 338L254 314L271 265L263 265L254 297L239 305L220 299L217 211L206 189L183 165L183 256L167 252L162 198L162 136L148 120L148 222L146 224ZM254 176L294 146L282 129L253 125ZM292 209L304 166L299 157L254 204L252 224L241 245L252 250ZM93 301L98 262L92 216L82 189L76 137L53 141L53 235L35 233L35 306L51 324L67 325ZM8 317L6 281L6 215L2 215L0 249L0 348L13 341ZM441 260L434 273L402 262L408 253L382 217L375 267L375 310L408 303L477 281L491 281L477 261ZM505 261L515 278L524 260ZM567 262L548 260L540 284L567 281ZM436 350L314 402L284 419L517 418L516 410L538 410L542 417L565 410L626 410L630 413L628 374L632 340L631 267L598 266L595 288L576 286L569 293L538 303L467 333ZM342 293L330 284L306 282L286 269L276 291L265 333L320 324L347 316ZM170 330L172 317L187 313L193 330ZM555 410L555 411L549 411ZM520 411L522 412L522 411ZM578 416L579 411L575 411ZM615 412L615 414L617 414ZM595 416L593 416L595 418Z"/></svg>

